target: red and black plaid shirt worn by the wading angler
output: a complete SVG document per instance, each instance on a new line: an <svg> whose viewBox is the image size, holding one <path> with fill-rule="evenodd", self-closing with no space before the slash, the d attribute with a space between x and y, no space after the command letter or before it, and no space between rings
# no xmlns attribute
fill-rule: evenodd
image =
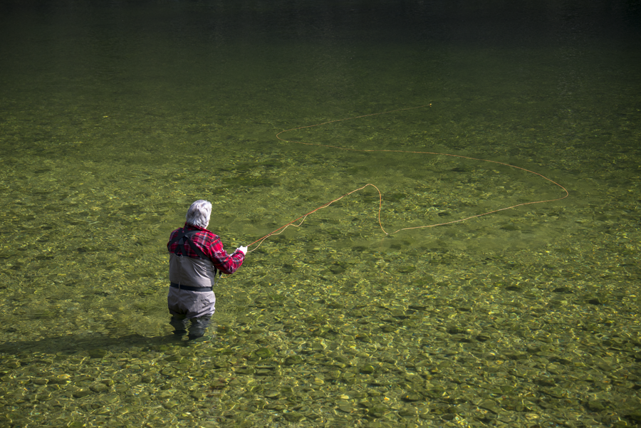
<svg viewBox="0 0 641 428"><path fill-rule="evenodd" d="M214 263L214 267L216 267L225 275L231 275L231 273L236 272L241 264L243 264L243 261L245 259L245 255L243 254L243 252L235 251L234 254L231 254L230 256L223 249L222 242L217 235L213 234L207 229L203 229L200 226L194 226L193 224L185 223L184 227L185 231L198 230L198 232L192 235L192 242L198 246L198 248L203 252L205 256L209 257L209 259L212 260L212 263ZM167 249L170 251L170 253L178 254L178 242L176 241L173 244L170 244L170 242L172 241L172 239L174 239L174 236L176 236L181 230L182 229L176 229L172 231L172 234L170 235L170 241L167 242ZM189 246L189 243L187 241L185 241L182 245L182 254L187 254L187 256L193 257L194 259L200 259L198 254L196 254L192 247Z"/></svg>

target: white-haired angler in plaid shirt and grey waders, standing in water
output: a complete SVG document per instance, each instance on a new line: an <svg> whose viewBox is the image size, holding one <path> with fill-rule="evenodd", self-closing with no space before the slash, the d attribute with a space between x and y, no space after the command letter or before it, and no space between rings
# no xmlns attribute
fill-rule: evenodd
<svg viewBox="0 0 641 428"><path fill-rule="evenodd" d="M167 249L170 252L170 290L167 296L174 335L187 333L189 340L204 338L214 315L216 273L231 275L243 263L246 246L229 255L219 237L207 230L212 203L199 199L187 210L182 229L172 231ZM202 340L202 339L201 339Z"/></svg>

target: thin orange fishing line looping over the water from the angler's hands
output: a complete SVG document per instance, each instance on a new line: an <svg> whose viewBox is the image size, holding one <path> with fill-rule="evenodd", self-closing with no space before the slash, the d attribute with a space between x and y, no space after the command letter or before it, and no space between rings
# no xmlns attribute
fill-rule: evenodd
<svg viewBox="0 0 641 428"><path fill-rule="evenodd" d="M506 166L506 167L511 167L511 168L515 168L515 169L521 169L521 171L525 171L525 172L529 172L530 174L538 175L538 177L541 177L541 178L543 178L543 179L546 179L548 182L551 182L552 184L555 184L556 186L561 187L561 189L563 189L563 192L565 192L565 194L563 195L563 197L559 197L559 198L556 198L556 199L545 199L545 200L541 200L541 201L534 201L534 202L523 202L523 203L521 203L521 204L511 205L510 207L504 207L504 208L494 209L494 210L492 210L492 211L484 212L484 213L482 213L482 214L476 214L476 215L474 215L474 216L465 217L464 219L452 220L452 221L446 221L445 223L428 224L428 225L426 225L426 226L404 227L404 228L402 228L402 229L398 229L397 231L393 231L393 232L392 232L392 234L396 234L397 232L404 231L404 230L411 230L411 229L426 229L426 228L428 228L428 227L444 226L445 224L459 223L460 221L466 221L466 220L469 220L469 219L474 219L474 218L476 218L476 217L486 216L486 215L488 215L488 214L493 214L493 213L495 213L495 212L505 211L506 209L513 209L513 208L516 208L516 207L522 207L523 205L543 204L543 203L545 203L545 202L560 201L561 199L566 199L566 197L570 196L570 192L568 192L568 189L566 189L565 187L561 186L561 184L558 184L557 182L555 182L555 181L553 181L553 180L549 179L548 177L545 177L545 176L543 176L542 174L539 174L538 172L534 172L534 171L531 171L531 170L529 170L529 169L525 169L525 168L517 167L516 165L509 165L509 164L506 164L506 163L504 163L504 162L498 162L498 161L496 161L496 160L479 159L479 158L477 158L477 157L469 157L469 156L462 156L462 155L451 155L451 154L449 154L449 153L439 153L439 152L418 152L418 151L412 151L412 150L375 150L375 149L370 149L370 150L368 150L368 149L351 149L351 148L348 148L348 147L338 147L338 146L333 146L333 145L320 144L320 143L316 143L316 142L304 142L304 141L296 141L296 140L285 140L285 139L283 139L283 138L281 138L281 137L280 137L280 135L281 135L281 134L283 134L284 132L295 131L295 130L302 130L302 129L306 129L306 128L310 128L310 127L321 126L321 125L328 125L329 123L343 122L344 120L360 119L360 118L367 118L367 117L369 117L369 116L385 115L386 113L395 113L395 112L400 112L400 111L405 111L405 110L414 110L414 109L417 109L417 108L428 107L429 105L432 105L432 104L419 105L418 107L400 108L400 109L398 109L398 110L389 110L389 111L385 111L385 112L381 112L381 113L372 113L372 114L370 114L370 115L355 116L355 117L353 117L353 118L345 118L345 119L330 120L330 121L328 121L328 122L317 123L316 125L307 125L307 126L301 126L301 127L293 127L293 128L291 128L291 129L283 130L283 131L281 131L281 132L278 132L278 134L276 134L276 138L278 138L278 140L281 140L281 141L283 141L283 142L293 142L293 143L296 143L296 144L313 145L313 146L318 146L318 147L328 147L328 148L330 148L330 149L347 150L347 151L350 151L350 152L392 152L392 153L414 153L414 154L417 154L417 155L442 155L442 156L450 156L450 157L460 157L460 158L462 158L462 159L469 159L469 160L478 160L478 161L480 161L480 162L491 162L491 163L493 163L493 164L497 164L497 165L504 165L504 166ZM289 223L285 224L284 226L279 227L279 228L278 228L278 229L276 229L275 231L272 231L271 233L266 234L266 235L265 235L265 236L263 236L262 238L260 238L260 239L256 239L256 241L252 242L252 243L251 243L251 244L249 244L248 246L252 246L252 245L254 245L254 244L256 244L256 243L259 243L259 244L258 244L258 246L256 246L256 248L255 248L255 249L252 249L252 250L250 250L249 252L251 253L251 251L256 251L256 249L258 249L258 248L259 248L259 246L261 246L261 244L263 244L263 241L265 241L265 239L269 238L269 236L282 234L282 233L283 233L283 231L285 231L285 229L287 229L289 226L300 227L300 226L303 224L303 221L305 221L305 219L307 218L307 216L308 216L308 215L310 215L310 214L313 214L313 213L317 212L319 209L327 208L327 207L329 207L331 204L333 204L334 202L340 201L340 199L343 199L344 197L349 196L350 194L353 194L354 192L358 192L359 190L363 190L363 189L365 189L365 187L368 187L368 186L372 186L372 187L374 187L374 188L377 190L377 192L378 192L378 225L380 226L380 229L383 231L383 233L384 233L384 234L386 234L386 235L390 235L390 234L388 234L388 233L387 233L387 231L385 231L385 229L383 228L382 223L381 223L381 221L380 221L380 211L381 211L381 208L382 208L382 194L381 194L380 190L378 189L378 187L376 187L374 184L368 183L368 184L365 184L365 186L363 186L363 187L359 187L358 189L354 189L353 191L351 191L351 192L349 192L349 193L345 193L345 194L343 194L343 196L341 196L341 197L338 197L338 198L336 198L336 199L333 199L332 201L327 202L327 203L325 203L325 204L321 205L320 207L318 207L318 208L316 208L316 209L313 209L311 212L308 212L307 214L303 214L302 216L298 217L297 219L294 219L294 220L290 221ZM301 222L300 222L299 224L294 224L294 223L296 223L296 221L298 221L298 220L301 220Z"/></svg>

